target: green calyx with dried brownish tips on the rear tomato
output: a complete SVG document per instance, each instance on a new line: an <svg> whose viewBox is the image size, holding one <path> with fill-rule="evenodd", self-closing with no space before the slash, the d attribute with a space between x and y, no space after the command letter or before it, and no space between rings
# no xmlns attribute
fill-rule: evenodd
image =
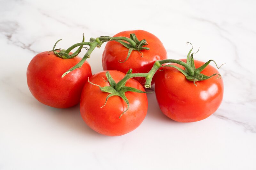
<svg viewBox="0 0 256 170"><path fill-rule="evenodd" d="M128 51L128 55L126 57L126 59L124 61L119 60L119 63L124 63L126 60L128 60L128 58L130 57L132 51L138 51L141 53L141 57L143 57L143 53L141 52L141 50L149 50L148 47L144 47L146 45L148 45L147 41L145 39L142 39L141 41L136 37L135 34L130 34L130 39L132 39L132 41L135 42L135 44L131 44L131 43L126 43L122 40L116 40L117 42L119 42L120 44L122 44L123 46L125 46L126 48L129 49Z"/></svg>

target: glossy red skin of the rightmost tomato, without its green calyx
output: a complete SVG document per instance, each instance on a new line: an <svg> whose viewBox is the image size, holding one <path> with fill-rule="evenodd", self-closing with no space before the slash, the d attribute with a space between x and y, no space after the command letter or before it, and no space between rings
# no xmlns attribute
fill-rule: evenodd
<svg viewBox="0 0 256 170"><path fill-rule="evenodd" d="M181 59L186 62L186 59ZM196 68L204 62L195 60ZM180 68L182 66L173 64ZM223 81L218 75L204 81L188 81L173 67L164 67L156 74L156 99L162 112L177 122L196 122L212 115L220 106L223 98ZM204 75L219 73L208 65Z"/></svg>

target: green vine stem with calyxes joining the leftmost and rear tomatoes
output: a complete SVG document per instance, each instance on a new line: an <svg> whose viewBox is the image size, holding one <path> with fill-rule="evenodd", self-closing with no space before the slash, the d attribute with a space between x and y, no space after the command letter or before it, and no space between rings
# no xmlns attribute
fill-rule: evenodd
<svg viewBox="0 0 256 170"><path fill-rule="evenodd" d="M117 42L119 42L120 44L122 44L123 46L125 46L126 48L129 49L128 54L127 54L127 58L125 59L125 61L129 58L129 56L130 56L130 54L133 50L137 50L140 53L142 53L141 50L149 50L148 47L145 47L146 45L148 45L147 41L145 39L138 40L135 34L130 34L130 38L101 36L101 37L98 37L96 39L91 38L90 42L84 42L84 34L83 34L83 41L70 46L67 50L65 50L65 49L55 49L56 44L60 40L58 40L54 44L52 51L57 57L60 57L62 59L71 59L71 58L76 57L81 52L82 48L85 48L87 50L87 52L84 54L84 57L82 58L82 60L79 63L77 63L74 67L70 68L65 73L63 73L62 76L61 76L62 78L65 75L67 75L68 73L70 73L71 71L75 70L76 68L80 68L84 64L84 61L87 58L90 58L90 55L91 55L92 51L96 47L100 48L102 43L107 42L107 41L117 41ZM69 54L74 48L76 48L78 46L79 46L79 48L76 50L75 53ZM88 47L83 47L83 46L89 46L89 48ZM143 55L143 53L142 53L142 55Z"/></svg>

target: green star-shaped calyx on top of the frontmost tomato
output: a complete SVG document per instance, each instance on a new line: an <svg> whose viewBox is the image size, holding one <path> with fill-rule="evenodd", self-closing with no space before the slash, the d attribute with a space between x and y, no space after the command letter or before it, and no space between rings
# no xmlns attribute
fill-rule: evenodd
<svg viewBox="0 0 256 170"><path fill-rule="evenodd" d="M130 69L127 74L131 74L132 73L132 69ZM135 88L132 88L132 87L127 87L124 85L122 85L122 87L119 87L118 89L116 88L117 87L117 84L116 82L114 81L114 79L111 77L111 75L109 74L109 72L107 71L106 72L106 77L107 77L107 81L109 83L110 86L105 86L105 87L101 87L97 84L93 84L92 82L89 81L89 78L88 78L88 82L95 85L95 86L98 86L100 88L100 90L104 93L109 93L109 95L107 96L106 98L106 101L104 103L102 107L104 107L108 101L108 98L109 97L112 97L112 96L119 96L121 97L124 102L127 104L127 109L124 110L121 115L119 116L119 118L121 118L121 116L129 109L129 100L127 99L127 97L125 96L125 92L127 91L131 91L131 92L136 92L136 93L152 93L152 92L146 92L146 91L141 91L139 89L135 89ZM103 78L104 80L104 78ZM105 81L105 80L104 80Z"/></svg>

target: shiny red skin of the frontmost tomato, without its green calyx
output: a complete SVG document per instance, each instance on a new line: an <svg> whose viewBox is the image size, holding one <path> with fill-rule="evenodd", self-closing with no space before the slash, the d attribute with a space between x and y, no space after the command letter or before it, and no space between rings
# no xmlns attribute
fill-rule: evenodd
<svg viewBox="0 0 256 170"><path fill-rule="evenodd" d="M94 84L109 86L102 77L107 80L106 71L94 74L89 81ZM120 81L124 77L124 73L110 70L112 78ZM133 79L129 79L126 86L143 90L142 85ZM94 131L107 136L120 136L136 129L144 120L148 110L148 99L145 93L126 92L125 96L129 100L130 107L127 109L127 104L119 96L112 96L108 98L106 105L104 105L109 93L104 93L98 86L86 82L81 95L80 112L84 122Z"/></svg>

